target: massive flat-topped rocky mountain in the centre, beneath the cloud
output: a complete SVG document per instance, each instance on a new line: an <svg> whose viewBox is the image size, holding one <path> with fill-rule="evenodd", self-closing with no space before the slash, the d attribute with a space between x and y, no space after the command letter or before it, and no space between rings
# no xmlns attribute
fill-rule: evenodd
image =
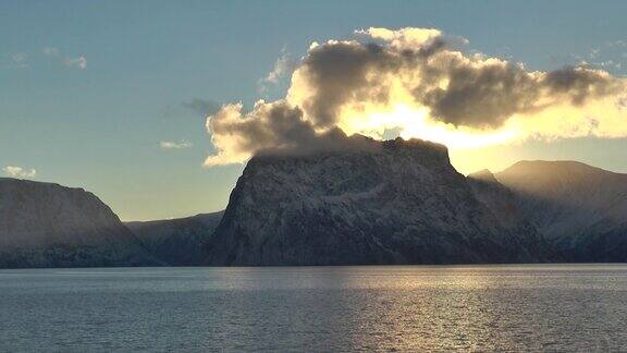
<svg viewBox="0 0 627 353"><path fill-rule="evenodd" d="M262 154L246 166L206 251L211 265L536 263L533 227L499 219L444 146L376 142ZM490 188L491 190L491 188Z"/></svg>

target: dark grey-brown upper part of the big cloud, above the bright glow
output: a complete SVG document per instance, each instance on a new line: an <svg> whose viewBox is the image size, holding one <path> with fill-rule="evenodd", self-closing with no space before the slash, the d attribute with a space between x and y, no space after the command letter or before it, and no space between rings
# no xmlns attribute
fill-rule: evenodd
<svg viewBox="0 0 627 353"><path fill-rule="evenodd" d="M392 86L398 83L434 119L480 129L499 127L513 114L564 99L580 105L623 87L604 72L586 68L540 73L496 59L471 58L448 50L441 39L418 48L328 42L309 51L299 75L311 92L299 104L320 126L334 125L341 118L339 109L347 105L391 104Z"/></svg>

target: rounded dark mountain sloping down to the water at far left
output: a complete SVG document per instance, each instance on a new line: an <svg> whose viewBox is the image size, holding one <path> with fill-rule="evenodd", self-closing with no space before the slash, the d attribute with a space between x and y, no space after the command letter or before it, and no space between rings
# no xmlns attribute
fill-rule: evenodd
<svg viewBox="0 0 627 353"><path fill-rule="evenodd" d="M156 265L135 235L82 188L0 178L0 267Z"/></svg>

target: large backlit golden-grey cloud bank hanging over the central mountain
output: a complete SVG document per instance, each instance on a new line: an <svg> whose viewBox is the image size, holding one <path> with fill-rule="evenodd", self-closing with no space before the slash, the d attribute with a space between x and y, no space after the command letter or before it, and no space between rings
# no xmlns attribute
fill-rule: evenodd
<svg viewBox="0 0 627 353"><path fill-rule="evenodd" d="M627 136L625 80L603 70L530 71L457 49L467 40L435 28L368 28L356 36L312 44L284 99L259 101L249 113L225 105L210 117L218 153L206 165L308 149L336 129L374 138L398 130L452 148Z"/></svg>

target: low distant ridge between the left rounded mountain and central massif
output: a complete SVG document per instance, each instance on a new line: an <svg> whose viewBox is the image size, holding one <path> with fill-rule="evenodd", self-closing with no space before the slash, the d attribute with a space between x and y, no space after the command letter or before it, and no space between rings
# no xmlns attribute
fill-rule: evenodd
<svg viewBox="0 0 627 353"><path fill-rule="evenodd" d="M202 265L207 257L202 244L220 222L222 214L125 224L150 254L165 264Z"/></svg>

